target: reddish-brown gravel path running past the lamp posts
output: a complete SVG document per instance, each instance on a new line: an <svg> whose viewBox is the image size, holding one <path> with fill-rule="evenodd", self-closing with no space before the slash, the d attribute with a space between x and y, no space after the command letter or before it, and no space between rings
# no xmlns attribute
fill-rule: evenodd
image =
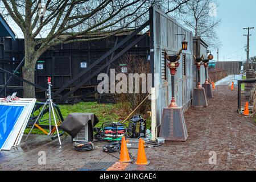
<svg viewBox="0 0 256 182"><path fill-rule="evenodd" d="M186 142L166 142L146 151L151 166L156 170L256 169L256 126L236 113L237 88L232 92L229 86L217 86L213 94L207 108L185 113ZM217 164L209 164L215 152Z"/></svg>

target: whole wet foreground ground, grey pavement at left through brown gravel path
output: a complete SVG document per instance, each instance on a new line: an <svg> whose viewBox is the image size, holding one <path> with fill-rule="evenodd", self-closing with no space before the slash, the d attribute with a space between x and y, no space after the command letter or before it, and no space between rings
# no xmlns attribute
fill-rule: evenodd
<svg viewBox="0 0 256 182"><path fill-rule="evenodd" d="M217 86L213 94L208 107L190 108L185 113L186 142L146 148L150 164L129 164L125 170L255 170L256 125L251 118L236 113L237 88L232 92L228 85ZM73 150L71 137L63 136L61 142L60 147L58 140L31 135L19 147L0 151L0 170L79 170L92 163L104 164L106 169L118 161L118 152L112 153L114 156L102 152L105 142L94 142L96 149L88 152ZM46 154L45 165L42 151ZM137 149L129 151L137 156Z"/></svg>

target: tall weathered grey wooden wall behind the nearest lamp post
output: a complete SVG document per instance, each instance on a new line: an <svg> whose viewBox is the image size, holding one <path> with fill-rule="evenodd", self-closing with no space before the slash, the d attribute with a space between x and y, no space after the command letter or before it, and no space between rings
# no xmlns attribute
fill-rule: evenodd
<svg viewBox="0 0 256 182"><path fill-rule="evenodd" d="M156 122L156 127L160 126L162 111L171 101L171 74L166 67L164 60L164 49L167 49L169 54L176 54L181 48L181 42L184 36L176 34L185 34L188 41L188 50L183 51L181 55L180 67L177 69L175 76L175 97L179 106L183 106L187 110L191 105L192 89L193 89L193 59L192 59L192 32L180 26L170 16L162 11L152 8L150 12L152 21L150 31L151 35L151 72L158 73L159 77L155 77L154 89L156 100L152 101L152 108L155 109L152 113L155 116L152 118L152 123ZM155 106L154 106L155 105ZM154 119L156 121L154 121ZM152 127L152 130L154 127ZM158 131L156 131L156 134Z"/></svg>

